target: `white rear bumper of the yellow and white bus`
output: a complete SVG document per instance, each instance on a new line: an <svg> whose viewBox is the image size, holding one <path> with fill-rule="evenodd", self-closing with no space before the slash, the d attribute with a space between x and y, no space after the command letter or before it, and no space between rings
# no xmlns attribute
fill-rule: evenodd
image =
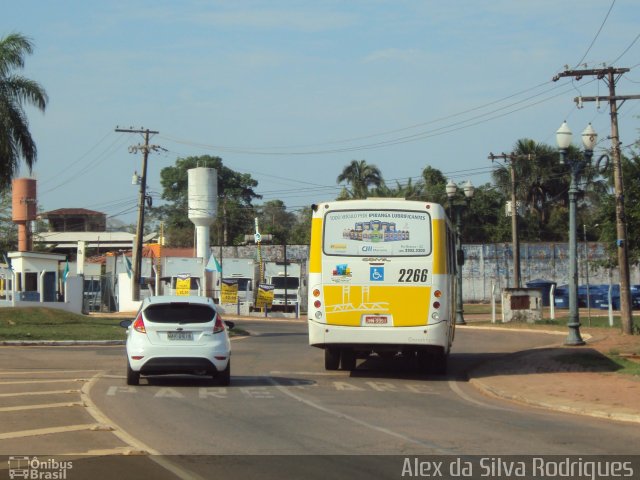
<svg viewBox="0 0 640 480"><path fill-rule="evenodd" d="M448 321L420 327L344 327L309 319L309 345L376 350L382 346L441 347L449 351Z"/></svg>

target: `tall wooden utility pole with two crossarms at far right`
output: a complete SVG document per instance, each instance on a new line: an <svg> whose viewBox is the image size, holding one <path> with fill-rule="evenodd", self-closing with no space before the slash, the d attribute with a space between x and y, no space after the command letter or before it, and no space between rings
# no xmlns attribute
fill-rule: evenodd
<svg viewBox="0 0 640 480"><path fill-rule="evenodd" d="M608 96L598 97L576 97L574 100L578 106L582 102L599 102L605 100L609 102L611 114L611 153L613 156L613 183L616 200L616 245L618 247L618 268L620 270L620 319L622 332L631 335L633 333L633 316L631 309L631 289L629 278L629 250L627 245L627 220L624 213L624 185L622 182L622 160L620 152L620 137L618 135L618 100L639 100L640 95L616 95L616 82L627 73L628 68L592 68L584 70L565 70L553 77L557 81L562 77L574 77L580 80L582 77L597 77L604 80L609 86ZM622 106L622 104L620 104Z"/></svg>

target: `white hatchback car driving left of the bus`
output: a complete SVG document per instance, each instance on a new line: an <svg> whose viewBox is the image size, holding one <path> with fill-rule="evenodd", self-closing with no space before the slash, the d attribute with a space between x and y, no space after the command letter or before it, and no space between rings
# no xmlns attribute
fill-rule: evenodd
<svg viewBox="0 0 640 480"><path fill-rule="evenodd" d="M228 328L208 297L159 295L145 298L127 328L127 384L140 375L211 375L220 385L231 381Z"/></svg>

